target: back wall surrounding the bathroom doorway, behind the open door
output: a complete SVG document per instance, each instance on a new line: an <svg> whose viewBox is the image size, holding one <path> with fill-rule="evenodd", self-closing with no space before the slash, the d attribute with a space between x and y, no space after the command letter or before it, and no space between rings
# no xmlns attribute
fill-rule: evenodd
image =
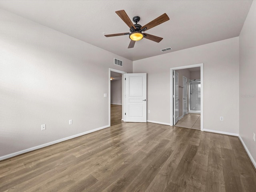
<svg viewBox="0 0 256 192"><path fill-rule="evenodd" d="M148 120L170 123L170 68L199 63L204 63L204 129L238 134L238 37L134 61L133 72L148 73Z"/></svg>

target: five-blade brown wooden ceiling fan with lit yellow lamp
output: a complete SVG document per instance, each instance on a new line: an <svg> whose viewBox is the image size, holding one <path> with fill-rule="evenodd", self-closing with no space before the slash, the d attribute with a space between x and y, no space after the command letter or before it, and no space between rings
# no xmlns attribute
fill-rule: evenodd
<svg viewBox="0 0 256 192"><path fill-rule="evenodd" d="M130 41L128 48L133 48L135 42L141 40L142 38L146 38L146 39L149 39L149 40L159 43L163 38L144 33L144 31L149 30L149 29L151 29L163 22L166 22L170 19L168 17L168 15L166 13L164 13L161 16L159 16L158 18L149 22L148 24L141 26L140 24L138 24L138 22L140 21L139 16L135 16L134 18L132 18L132 20L136 23L136 24L133 24L124 10L116 11L116 14L118 14L118 16L126 23L126 25L128 25L128 27L130 28L130 32L110 34L110 35L105 35L105 36L113 37L113 36L129 35L129 38L131 39L131 41Z"/></svg>

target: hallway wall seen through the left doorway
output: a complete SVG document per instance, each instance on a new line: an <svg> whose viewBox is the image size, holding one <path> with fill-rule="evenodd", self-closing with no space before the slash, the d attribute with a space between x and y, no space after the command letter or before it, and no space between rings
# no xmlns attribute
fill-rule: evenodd
<svg viewBox="0 0 256 192"><path fill-rule="evenodd" d="M112 80L111 82L111 104L122 105L122 79Z"/></svg>

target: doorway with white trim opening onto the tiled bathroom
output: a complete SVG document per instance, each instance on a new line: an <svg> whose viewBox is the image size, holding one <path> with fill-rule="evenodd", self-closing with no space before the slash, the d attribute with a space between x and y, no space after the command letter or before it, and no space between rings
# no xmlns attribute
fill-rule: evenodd
<svg viewBox="0 0 256 192"><path fill-rule="evenodd" d="M203 130L203 64L171 68L170 73L171 126Z"/></svg>

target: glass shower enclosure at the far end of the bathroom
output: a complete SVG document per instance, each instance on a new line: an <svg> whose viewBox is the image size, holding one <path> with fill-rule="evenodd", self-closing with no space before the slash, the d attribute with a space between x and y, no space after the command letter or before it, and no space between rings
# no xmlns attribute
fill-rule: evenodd
<svg viewBox="0 0 256 192"><path fill-rule="evenodd" d="M201 112L201 81L200 79L194 79L189 81L189 112L200 113Z"/></svg>

